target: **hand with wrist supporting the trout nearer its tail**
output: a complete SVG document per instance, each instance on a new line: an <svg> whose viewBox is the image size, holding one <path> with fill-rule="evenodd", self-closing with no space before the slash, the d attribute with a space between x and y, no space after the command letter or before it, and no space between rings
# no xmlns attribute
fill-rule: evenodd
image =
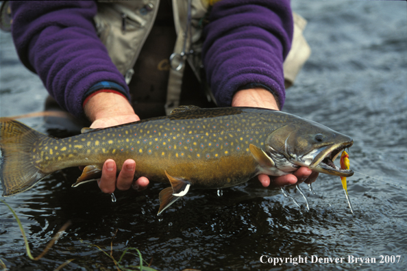
<svg viewBox="0 0 407 271"><path fill-rule="evenodd" d="M140 120L127 99L110 92L100 92L90 98L84 111L93 121L90 128L105 128ZM103 164L101 179L97 184L105 193L113 193L116 188L128 190L132 187L134 190L144 190L149 180L146 177L140 177L134 181L135 171L136 162L133 159L127 159L116 178L116 163L113 159L108 159Z"/></svg>

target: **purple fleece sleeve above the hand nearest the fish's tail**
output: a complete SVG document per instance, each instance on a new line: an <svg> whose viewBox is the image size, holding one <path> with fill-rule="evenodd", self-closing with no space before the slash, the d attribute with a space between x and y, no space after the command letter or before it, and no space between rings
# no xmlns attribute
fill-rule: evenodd
<svg viewBox="0 0 407 271"><path fill-rule="evenodd" d="M10 1L18 56L58 103L83 116L88 89L111 81L129 91L123 75L97 37L95 1Z"/></svg>

